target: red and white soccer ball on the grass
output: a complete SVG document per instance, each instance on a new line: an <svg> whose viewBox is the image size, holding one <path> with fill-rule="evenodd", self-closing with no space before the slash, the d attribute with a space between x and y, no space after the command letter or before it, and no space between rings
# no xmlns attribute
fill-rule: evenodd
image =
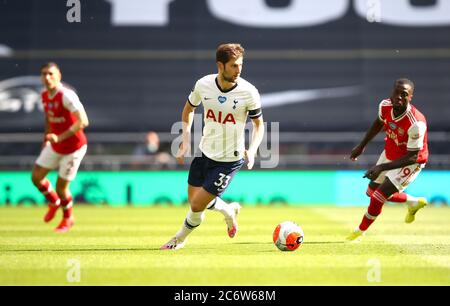
<svg viewBox="0 0 450 306"><path fill-rule="evenodd" d="M285 221L277 225L273 231L273 243L281 251L294 251L303 243L302 228L292 222Z"/></svg>

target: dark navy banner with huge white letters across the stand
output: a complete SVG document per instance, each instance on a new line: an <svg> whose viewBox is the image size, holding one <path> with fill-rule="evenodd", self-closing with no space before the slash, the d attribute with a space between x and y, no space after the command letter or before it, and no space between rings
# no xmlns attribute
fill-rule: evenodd
<svg viewBox="0 0 450 306"><path fill-rule="evenodd" d="M78 90L90 131L167 132L229 41L246 47L243 77L281 131L365 130L405 76L430 129L449 129L448 1L75 2L73 20L67 1L0 3L1 132L42 130L36 77L48 60Z"/></svg>

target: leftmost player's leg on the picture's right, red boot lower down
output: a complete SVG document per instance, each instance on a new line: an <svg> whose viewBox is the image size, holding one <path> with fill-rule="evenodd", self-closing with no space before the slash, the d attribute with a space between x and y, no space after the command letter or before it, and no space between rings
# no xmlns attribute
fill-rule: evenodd
<svg viewBox="0 0 450 306"><path fill-rule="evenodd" d="M63 219L55 229L57 232L67 232L74 225L73 198L72 193L70 192L70 183L75 180L81 161L86 155L86 151L87 146L83 146L71 154L64 155L59 163L59 176L56 182L56 192L61 198Z"/></svg>

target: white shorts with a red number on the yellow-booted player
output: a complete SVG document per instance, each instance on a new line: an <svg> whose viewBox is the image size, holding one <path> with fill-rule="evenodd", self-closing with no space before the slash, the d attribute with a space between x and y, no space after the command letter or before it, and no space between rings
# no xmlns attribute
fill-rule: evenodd
<svg viewBox="0 0 450 306"><path fill-rule="evenodd" d="M386 158L386 152L383 151L377 161L377 165L389 162L391 162L391 160ZM416 177L424 167L425 164L412 164L400 169L383 171L374 182L377 184L382 184L384 182L384 179L388 177L392 184L397 187L398 191L402 192L406 189L406 187L408 187L409 184L411 184L416 179Z"/></svg>

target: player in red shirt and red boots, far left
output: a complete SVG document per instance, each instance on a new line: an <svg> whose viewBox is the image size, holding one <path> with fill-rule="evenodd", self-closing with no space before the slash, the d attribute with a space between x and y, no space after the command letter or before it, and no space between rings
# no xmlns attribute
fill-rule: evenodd
<svg viewBox="0 0 450 306"><path fill-rule="evenodd" d="M45 87L42 92L45 133L41 154L33 167L32 181L49 202L44 221L50 222L62 207L63 219L55 231L67 232L74 224L69 185L86 154L87 140L83 129L89 121L77 94L61 83L61 70L57 64L43 65L41 80ZM56 190L46 178L53 169L59 170Z"/></svg>

